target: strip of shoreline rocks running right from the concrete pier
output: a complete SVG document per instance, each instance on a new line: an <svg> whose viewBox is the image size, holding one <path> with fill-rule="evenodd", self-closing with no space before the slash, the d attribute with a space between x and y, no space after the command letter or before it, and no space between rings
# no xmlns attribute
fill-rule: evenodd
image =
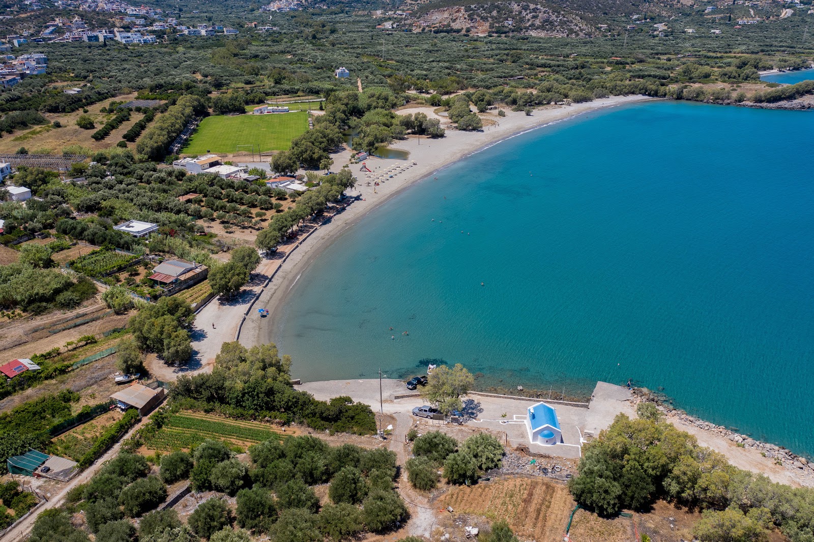
<svg viewBox="0 0 814 542"><path fill-rule="evenodd" d="M712 434L719 435L724 439L729 440L740 448L749 449L760 456L766 457L777 466L782 466L784 469L794 474L794 478L799 480L804 486L814 487L814 463L808 461L805 457L798 456L777 444L769 444L759 440L752 439L749 435L741 435L735 431L731 431L724 426L716 426L714 423L705 422L704 420L689 415L683 410L674 409L667 404L663 404L657 398L650 395L647 390L636 390L634 392L633 403L637 404L641 401L654 402L659 410L664 414L667 422L683 422L685 424L698 427L702 431L708 431Z"/></svg>

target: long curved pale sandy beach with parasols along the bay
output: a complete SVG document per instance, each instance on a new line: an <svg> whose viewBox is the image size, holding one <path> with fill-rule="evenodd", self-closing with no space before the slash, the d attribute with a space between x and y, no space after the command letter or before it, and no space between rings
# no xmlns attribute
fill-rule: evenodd
<svg viewBox="0 0 814 542"><path fill-rule="evenodd" d="M444 116L437 116L433 113L432 107L406 107L398 111L401 115L421 111L427 116L442 120L442 125L447 128L446 137L440 139L415 138L411 137L405 141L395 142L390 148L409 151L408 160L383 160L371 157L365 160L372 173L360 171L361 164L352 164L350 167L357 177L357 186L347 190L350 196L358 196L360 199L348 208L335 216L330 224L323 225L314 232L304 243L297 247L287 258L281 268L274 276L274 280L260 294L256 306L269 310L270 316L261 318L256 313L247 315L246 321L240 330L239 340L247 347L255 344L274 342L273 332L280 317L279 308L285 302L287 293L295 285L300 274L303 273L309 264L330 245L339 235L350 226L355 224L372 209L381 203L392 198L401 190L412 186L418 181L431 177L432 173L461 160L467 155L474 154L497 142L511 138L520 133L525 133L531 129L537 129L545 125L567 120L575 116L597 111L607 107L618 107L628 103L651 100L647 96L616 96L612 98L602 98L588 103L576 103L571 106L546 106L535 109L532 116L526 116L523 111L505 111L506 116L497 116L497 111L490 111L482 115L484 118L484 129L479 132L459 132L456 129L449 129L446 126L448 120ZM350 151L343 151L332 156L334 159L333 170L339 170L350 160ZM415 162L415 164L413 164ZM379 186L374 186L374 177L382 178L381 175L388 168L401 166L389 178L389 173L383 178L385 181ZM405 171L400 169L406 168ZM370 186L367 186L370 181Z"/></svg>

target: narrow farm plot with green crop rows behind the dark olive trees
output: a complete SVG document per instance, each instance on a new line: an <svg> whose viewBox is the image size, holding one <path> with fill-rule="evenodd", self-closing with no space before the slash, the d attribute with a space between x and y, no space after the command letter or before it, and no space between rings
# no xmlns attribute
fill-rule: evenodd
<svg viewBox="0 0 814 542"><path fill-rule="evenodd" d="M151 450L173 451L194 448L206 439L225 441L248 448L269 439L282 439L274 427L260 422L213 418L202 413L174 414L164 426L145 442Z"/></svg>

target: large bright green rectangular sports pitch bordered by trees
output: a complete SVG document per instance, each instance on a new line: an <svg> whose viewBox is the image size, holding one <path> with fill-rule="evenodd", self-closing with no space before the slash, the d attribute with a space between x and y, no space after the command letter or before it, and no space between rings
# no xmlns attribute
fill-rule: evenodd
<svg viewBox="0 0 814 542"><path fill-rule="evenodd" d="M255 144L260 151L285 151L291 139L308 129L308 114L303 112L278 115L208 116L183 149L187 155L207 151L230 153L238 145ZM241 151L247 150L247 147Z"/></svg>

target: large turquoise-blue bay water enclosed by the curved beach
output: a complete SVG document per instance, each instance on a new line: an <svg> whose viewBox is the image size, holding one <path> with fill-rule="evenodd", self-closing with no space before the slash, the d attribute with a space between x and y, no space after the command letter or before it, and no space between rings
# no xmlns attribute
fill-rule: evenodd
<svg viewBox="0 0 814 542"><path fill-rule="evenodd" d="M307 380L424 358L505 386L632 378L814 455L811 133L809 112L657 102L512 138L349 229L274 339Z"/></svg>

